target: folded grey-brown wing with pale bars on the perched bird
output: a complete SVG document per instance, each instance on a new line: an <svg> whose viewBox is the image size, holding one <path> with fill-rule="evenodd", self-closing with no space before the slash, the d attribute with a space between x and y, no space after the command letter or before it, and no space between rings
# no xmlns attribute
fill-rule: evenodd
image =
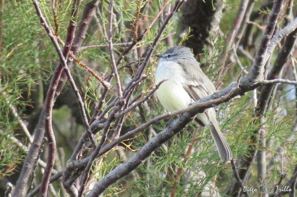
<svg viewBox="0 0 297 197"><path fill-rule="evenodd" d="M216 89L211 80L203 73L198 62L191 62L191 66L184 66L186 77L183 87L190 97L197 101L207 95L213 94ZM188 63L187 63L188 64Z"/></svg>

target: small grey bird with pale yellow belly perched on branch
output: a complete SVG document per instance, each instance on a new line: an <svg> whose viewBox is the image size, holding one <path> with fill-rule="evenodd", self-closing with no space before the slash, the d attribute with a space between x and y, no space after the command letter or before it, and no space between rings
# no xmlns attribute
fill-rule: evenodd
<svg viewBox="0 0 297 197"><path fill-rule="evenodd" d="M172 47L155 56L159 57L155 83L167 79L157 89L157 97L168 112L187 108L190 103L216 91L191 49ZM198 113L196 119L210 130L221 160L229 163L232 152L217 122L215 109L208 108L204 113Z"/></svg>

